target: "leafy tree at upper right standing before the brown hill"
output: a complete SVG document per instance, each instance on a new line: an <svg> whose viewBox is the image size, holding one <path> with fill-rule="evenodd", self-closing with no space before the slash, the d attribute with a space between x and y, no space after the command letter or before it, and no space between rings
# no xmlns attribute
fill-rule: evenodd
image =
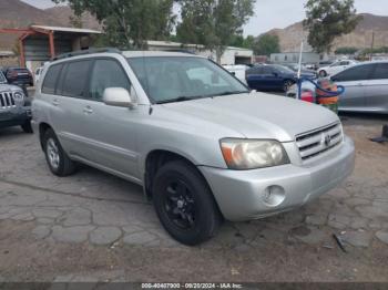
<svg viewBox="0 0 388 290"><path fill-rule="evenodd" d="M361 20L354 8L354 0L308 0L307 19L308 43L316 52L330 52L336 38L350 33Z"/></svg>

